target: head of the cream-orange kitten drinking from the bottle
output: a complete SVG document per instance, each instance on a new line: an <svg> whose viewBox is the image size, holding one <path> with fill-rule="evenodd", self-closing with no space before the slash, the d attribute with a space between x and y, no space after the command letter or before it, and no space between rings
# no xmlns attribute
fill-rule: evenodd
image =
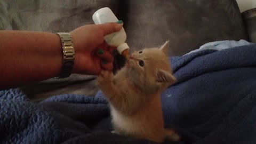
<svg viewBox="0 0 256 144"><path fill-rule="evenodd" d="M176 78L168 58L169 41L161 47L133 52L125 67L131 81L143 92L154 93L173 84Z"/></svg>

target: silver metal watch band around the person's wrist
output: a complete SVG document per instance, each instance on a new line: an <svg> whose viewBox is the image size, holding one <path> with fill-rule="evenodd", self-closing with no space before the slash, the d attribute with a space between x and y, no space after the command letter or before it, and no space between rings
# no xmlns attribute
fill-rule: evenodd
<svg viewBox="0 0 256 144"><path fill-rule="evenodd" d="M63 50L63 62L61 73L58 78L65 78L71 75L75 62L75 49L72 41L72 37L69 33L57 33L60 36L62 50Z"/></svg>

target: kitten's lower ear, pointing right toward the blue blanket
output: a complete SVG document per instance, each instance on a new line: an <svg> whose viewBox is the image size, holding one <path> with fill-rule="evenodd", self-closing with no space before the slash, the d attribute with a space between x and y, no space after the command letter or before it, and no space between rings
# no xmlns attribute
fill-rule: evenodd
<svg viewBox="0 0 256 144"><path fill-rule="evenodd" d="M156 76L157 82L159 83L168 83L171 85L177 81L177 79L171 73L162 69L158 69L156 71Z"/></svg>

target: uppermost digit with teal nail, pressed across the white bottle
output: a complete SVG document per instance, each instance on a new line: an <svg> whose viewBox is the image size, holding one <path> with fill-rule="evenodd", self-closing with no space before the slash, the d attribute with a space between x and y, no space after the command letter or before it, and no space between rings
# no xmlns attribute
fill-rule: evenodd
<svg viewBox="0 0 256 144"><path fill-rule="evenodd" d="M117 22L108 22L98 25L100 29L103 31L103 35L106 36L108 34L117 32L122 29L123 21L119 20Z"/></svg>

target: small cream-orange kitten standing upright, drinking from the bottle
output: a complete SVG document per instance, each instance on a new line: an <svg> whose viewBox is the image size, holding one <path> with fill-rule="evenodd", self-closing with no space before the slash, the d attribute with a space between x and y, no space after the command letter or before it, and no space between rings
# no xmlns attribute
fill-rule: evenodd
<svg viewBox="0 0 256 144"><path fill-rule="evenodd" d="M161 93L176 81L168 49L169 41L160 48L132 53L115 76L101 71L97 84L110 104L115 133L156 142L180 139L164 128L161 107Z"/></svg>

